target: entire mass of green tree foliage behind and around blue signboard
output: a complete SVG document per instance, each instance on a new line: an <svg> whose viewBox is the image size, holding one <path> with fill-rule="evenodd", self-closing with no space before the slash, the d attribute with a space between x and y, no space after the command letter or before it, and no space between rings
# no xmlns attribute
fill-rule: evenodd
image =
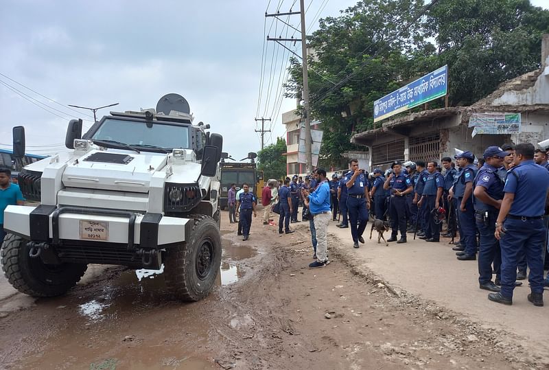
<svg viewBox="0 0 549 370"><path fill-rule="evenodd" d="M324 130L322 165L341 167L342 152L362 150L349 139L374 128L373 102L425 73L448 65L449 102L456 106L539 67L549 11L528 0L439 0L414 21L426 2L359 1L338 17L321 19L309 36L309 91L312 116ZM294 58L285 96L299 97L302 86ZM442 99L429 104L440 106Z"/></svg>

